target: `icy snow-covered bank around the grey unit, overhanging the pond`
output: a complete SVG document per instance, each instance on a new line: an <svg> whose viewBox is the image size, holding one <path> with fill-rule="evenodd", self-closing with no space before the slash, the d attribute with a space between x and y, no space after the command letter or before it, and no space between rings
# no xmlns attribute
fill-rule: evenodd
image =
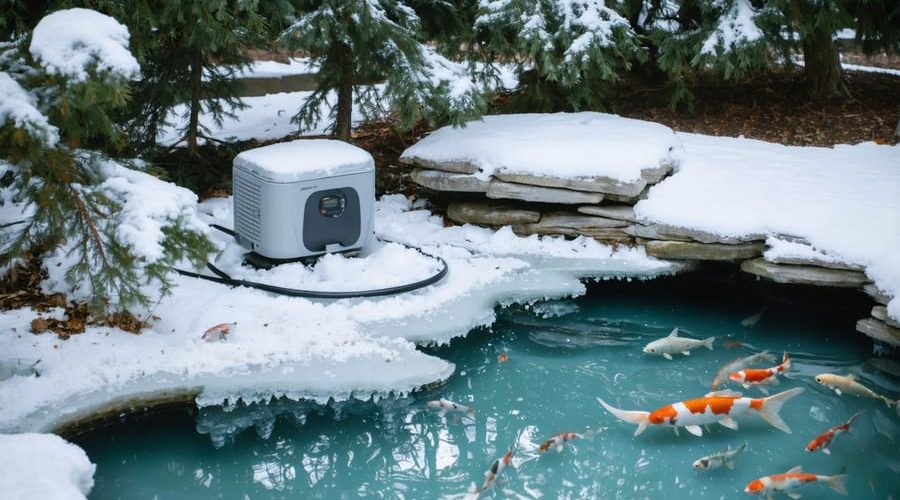
<svg viewBox="0 0 900 500"><path fill-rule="evenodd" d="M200 210L208 222L230 225L230 200L212 200ZM682 269L640 250L613 251L587 238L444 228L440 218L398 196L378 204L376 221L379 236L443 257L450 266L447 278L406 295L328 302L179 277L173 295L148 311L151 327L141 335L89 328L64 342L31 334L33 311L4 312L8 326L0 335L7 348L0 362L40 360L40 376L22 373L0 381L0 429L50 431L102 411L106 403L154 398L164 390L197 391L201 406L238 398L324 402L404 394L453 372L452 364L417 351L414 342L446 342L488 325L497 303L578 295L585 277L652 278ZM215 236L227 255L229 238ZM373 269L388 264L377 253L362 258L374 259ZM342 286L339 275L349 271L321 264L306 278ZM270 278L278 279L278 272L286 271ZM379 285L377 273L369 282L356 279ZM223 322L238 324L227 341L200 339L205 329Z"/></svg>

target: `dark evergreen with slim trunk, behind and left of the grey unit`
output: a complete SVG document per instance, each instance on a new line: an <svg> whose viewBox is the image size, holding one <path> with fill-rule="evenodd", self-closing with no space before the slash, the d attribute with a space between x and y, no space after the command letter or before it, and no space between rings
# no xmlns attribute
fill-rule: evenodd
<svg viewBox="0 0 900 500"><path fill-rule="evenodd" d="M267 42L270 19L277 28L290 12L287 0L69 0L88 3L121 20L132 33L132 50L142 78L132 86L134 99L122 110L131 140L142 148L156 144L175 105L187 103L183 141L196 152L208 134L200 123L206 113L221 125L244 108L235 74L249 59L241 49Z"/></svg>

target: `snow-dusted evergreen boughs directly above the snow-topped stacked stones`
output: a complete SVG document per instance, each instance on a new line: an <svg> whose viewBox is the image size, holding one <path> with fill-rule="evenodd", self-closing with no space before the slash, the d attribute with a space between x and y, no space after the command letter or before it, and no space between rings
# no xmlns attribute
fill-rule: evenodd
<svg viewBox="0 0 900 500"><path fill-rule="evenodd" d="M480 0L473 47L487 62L516 63L526 109L595 109L608 98L604 89L644 57L613 7L604 0Z"/></svg>

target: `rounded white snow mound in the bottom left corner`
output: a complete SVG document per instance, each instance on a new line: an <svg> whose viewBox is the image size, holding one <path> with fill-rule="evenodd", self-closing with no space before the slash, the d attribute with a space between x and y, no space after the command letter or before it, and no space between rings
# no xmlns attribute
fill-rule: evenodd
<svg viewBox="0 0 900 500"><path fill-rule="evenodd" d="M53 434L0 434L0 495L16 500L77 500L94 487L87 454Z"/></svg>

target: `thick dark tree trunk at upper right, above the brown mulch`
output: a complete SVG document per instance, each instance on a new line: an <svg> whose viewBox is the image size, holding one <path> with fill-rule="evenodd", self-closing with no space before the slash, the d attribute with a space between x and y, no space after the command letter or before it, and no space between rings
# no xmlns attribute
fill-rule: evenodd
<svg viewBox="0 0 900 500"><path fill-rule="evenodd" d="M803 40L804 75L816 99L844 98L850 95L844 84L840 52L826 30L814 30Z"/></svg>

